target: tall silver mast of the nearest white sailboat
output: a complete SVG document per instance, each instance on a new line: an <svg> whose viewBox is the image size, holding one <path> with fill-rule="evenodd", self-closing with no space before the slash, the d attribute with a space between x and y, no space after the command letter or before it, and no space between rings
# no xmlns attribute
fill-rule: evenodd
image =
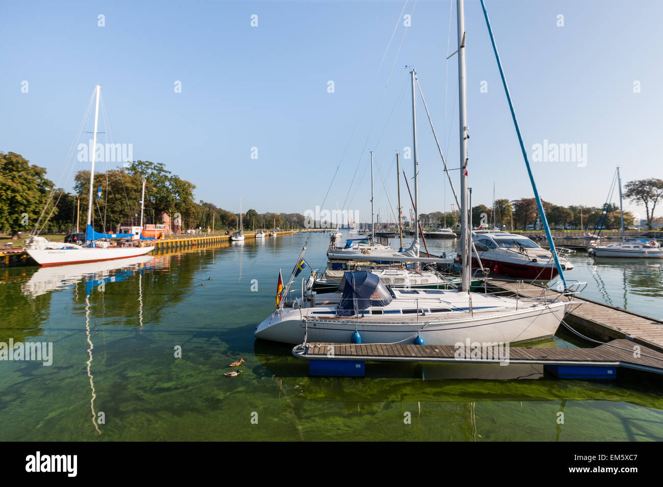
<svg viewBox="0 0 663 487"><path fill-rule="evenodd" d="M460 129L460 225L461 225L461 282L463 292L469 292L471 262L467 229L467 93L465 80L465 8L463 0L456 0L458 25L458 116Z"/></svg>

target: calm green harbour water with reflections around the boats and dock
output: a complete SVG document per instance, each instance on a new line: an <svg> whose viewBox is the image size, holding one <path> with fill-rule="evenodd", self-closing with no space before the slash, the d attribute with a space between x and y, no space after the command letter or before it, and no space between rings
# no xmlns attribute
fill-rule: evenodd
<svg viewBox="0 0 663 487"><path fill-rule="evenodd" d="M305 239L103 270L0 269L0 341L52 342L54 354L51 366L0 361L0 439L663 440L660 378L600 384L544 378L530 366L442 364L368 364L366 378L309 378L290 346L253 338L274 308L278 269L287 279ZM312 266L324 264L327 243L312 235ZM429 246L438 253L452 243ZM568 277L588 283L583 296L663 318L663 262L581 252L573 262ZM566 335L538 344L583 345ZM223 376L239 358L243 373ZM105 423L95 425L100 412Z"/></svg>

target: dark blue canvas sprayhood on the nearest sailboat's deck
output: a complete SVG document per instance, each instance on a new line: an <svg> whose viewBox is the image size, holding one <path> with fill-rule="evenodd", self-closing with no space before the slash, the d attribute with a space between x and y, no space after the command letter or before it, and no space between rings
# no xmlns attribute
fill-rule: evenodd
<svg viewBox="0 0 663 487"><path fill-rule="evenodd" d="M353 316L371 306L386 306L393 299L380 278L365 270L344 272L337 316Z"/></svg>

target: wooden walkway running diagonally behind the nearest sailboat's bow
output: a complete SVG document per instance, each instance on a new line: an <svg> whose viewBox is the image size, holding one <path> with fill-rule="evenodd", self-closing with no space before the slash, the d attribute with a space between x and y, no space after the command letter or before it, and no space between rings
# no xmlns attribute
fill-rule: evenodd
<svg viewBox="0 0 663 487"><path fill-rule="evenodd" d="M524 282L507 282L489 279L487 286L523 298L536 298L545 292L548 296L559 293L544 286ZM560 299L566 299L561 296ZM587 337L609 341L615 339L632 339L639 345L663 352L663 321L640 315L615 306L610 306L591 299L575 296L567 309L564 322Z"/></svg>

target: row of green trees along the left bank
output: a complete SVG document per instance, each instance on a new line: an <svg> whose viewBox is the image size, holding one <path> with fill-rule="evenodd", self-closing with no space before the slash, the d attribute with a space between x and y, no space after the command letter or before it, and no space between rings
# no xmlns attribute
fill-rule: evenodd
<svg viewBox="0 0 663 487"><path fill-rule="evenodd" d="M196 186L166 170L164 164L138 160L126 168L95 172L93 227L117 232L120 225L139 225L141 195L145 178L143 223L164 223L164 214L180 215L181 229L235 229L239 214L213 203L194 200ZM100 197L98 196L101 191ZM30 164L15 152L0 152L0 231L17 238L19 232L36 229L41 233L84 231L90 195L90 170L74 176L74 192L55 188L46 169ZM304 227L298 213L257 213L242 215L244 230Z"/></svg>

